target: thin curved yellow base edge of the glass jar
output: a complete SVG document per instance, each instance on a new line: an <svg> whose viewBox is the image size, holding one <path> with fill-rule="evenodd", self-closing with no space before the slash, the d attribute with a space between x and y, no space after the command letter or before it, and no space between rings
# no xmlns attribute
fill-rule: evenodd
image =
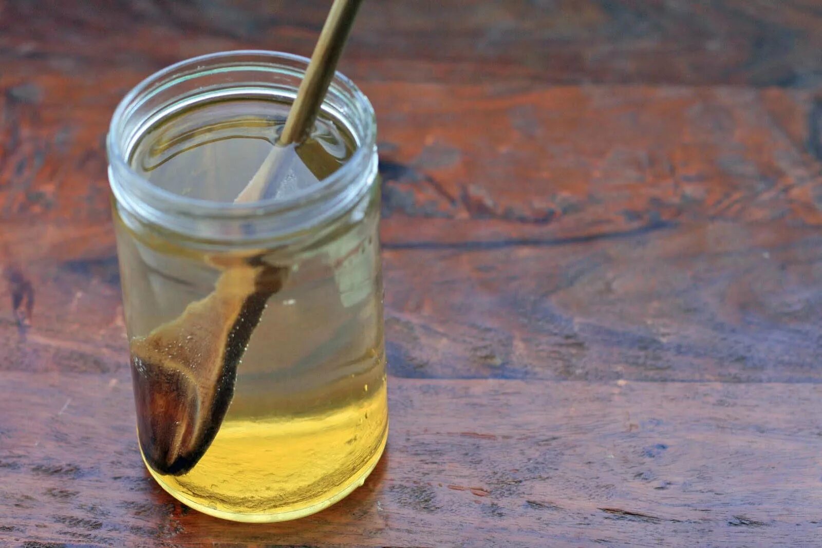
<svg viewBox="0 0 822 548"><path fill-rule="evenodd" d="M143 458L143 463L145 463L146 469L148 469L151 477L155 478L155 481L159 484L160 487L163 488L169 495L172 495L175 499L182 502L189 508L195 509L199 512L206 513L210 516L214 516L215 518L222 518L228 519L229 521L234 522L242 522L242 523L275 523L275 522L285 522L292 519L304 518L305 516L309 516L312 513L317 513L320 510L328 508L331 504L335 504L339 500L343 500L346 496L348 496L353 490L357 489L359 486L362 486L365 483L365 480L368 476L371 475L371 472L376 467L376 463L380 462L380 458L384 450L386 449L386 442L388 440L388 425L386 423L386 429L383 432L381 442L372 455L372 458L369 458L367 462L361 467L357 472L355 472L347 481L344 481L341 485L339 485L334 490L329 490L327 493L326 498L321 500L320 502L312 502L312 504L308 504L304 508L294 509L293 505L289 505L289 509L285 511L278 511L277 508L272 508L270 511L262 512L262 513L241 513L241 512L226 512L224 510L210 508L205 504L201 504L196 502L195 500L191 500L186 495L181 493L179 490L174 489L172 486L169 486L163 479L161 474L158 474L154 470L148 466L148 463L145 463L145 456L142 453L142 448L140 450L140 455Z"/></svg>

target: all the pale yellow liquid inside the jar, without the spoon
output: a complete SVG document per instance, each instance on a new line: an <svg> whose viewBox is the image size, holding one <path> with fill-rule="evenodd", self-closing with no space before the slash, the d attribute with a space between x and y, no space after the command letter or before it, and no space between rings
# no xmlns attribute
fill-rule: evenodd
<svg viewBox="0 0 822 548"><path fill-rule="evenodd" d="M233 201L270 151L271 122L285 112L253 100L192 108L147 131L132 166L170 191ZM332 122L318 127L299 150L313 175L307 181L353 150ZM261 251L289 274L242 354L219 431L188 472L150 469L178 500L238 521L298 518L339 500L376 465L388 427L376 191L350 216L356 221L339 221L310 245ZM238 263L236 251L198 251L122 211L115 221L132 347L210 298L226 273L215 265Z"/></svg>

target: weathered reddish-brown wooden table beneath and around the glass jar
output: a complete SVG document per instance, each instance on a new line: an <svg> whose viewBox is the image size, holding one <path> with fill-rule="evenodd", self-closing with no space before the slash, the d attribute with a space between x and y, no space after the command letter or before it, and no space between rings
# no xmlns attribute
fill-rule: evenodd
<svg viewBox="0 0 822 548"><path fill-rule="evenodd" d="M819 546L822 4L372 0L391 432L310 518L137 454L104 135L329 2L0 0L0 545Z"/></svg>

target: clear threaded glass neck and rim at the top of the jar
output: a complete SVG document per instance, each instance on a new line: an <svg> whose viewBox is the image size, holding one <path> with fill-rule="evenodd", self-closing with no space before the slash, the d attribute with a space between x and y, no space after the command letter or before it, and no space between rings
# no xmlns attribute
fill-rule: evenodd
<svg viewBox="0 0 822 548"><path fill-rule="evenodd" d="M336 73L322 104L349 131L352 156L316 185L286 198L235 204L182 196L150 182L130 165L150 127L182 109L230 97L292 102L308 59L289 53L234 51L188 59L149 76L115 110L106 147L118 207L142 223L215 243L289 239L338 218L376 180L376 123L366 96Z"/></svg>

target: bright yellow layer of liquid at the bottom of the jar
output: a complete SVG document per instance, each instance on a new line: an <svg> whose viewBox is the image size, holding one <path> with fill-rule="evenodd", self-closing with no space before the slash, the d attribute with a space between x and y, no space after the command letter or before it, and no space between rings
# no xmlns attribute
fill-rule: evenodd
<svg viewBox="0 0 822 548"><path fill-rule="evenodd" d="M383 384L372 397L326 415L224 421L191 472L174 477L149 471L171 495L203 513L241 522L284 521L319 512L362 486L387 434Z"/></svg>

